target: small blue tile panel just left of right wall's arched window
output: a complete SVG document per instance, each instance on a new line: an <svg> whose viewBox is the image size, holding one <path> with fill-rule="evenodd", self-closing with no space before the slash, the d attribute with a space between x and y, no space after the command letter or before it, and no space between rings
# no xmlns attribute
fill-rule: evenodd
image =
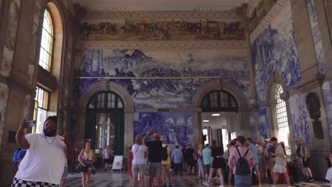
<svg viewBox="0 0 332 187"><path fill-rule="evenodd" d="M260 137L262 139L270 138L270 108L260 109L258 120L260 123Z"/></svg>

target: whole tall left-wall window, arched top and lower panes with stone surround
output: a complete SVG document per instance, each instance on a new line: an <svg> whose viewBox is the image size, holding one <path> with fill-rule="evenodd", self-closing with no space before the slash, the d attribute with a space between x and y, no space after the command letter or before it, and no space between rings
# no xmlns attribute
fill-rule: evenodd
<svg viewBox="0 0 332 187"><path fill-rule="evenodd" d="M43 132L43 123L48 115L57 113L57 98L59 88L55 86L54 81L60 81L60 67L62 62L62 45L63 45L63 25L61 13L57 6L48 2L43 13L43 26L40 27L40 48L36 52L39 57L39 65L46 71L38 72L37 88L35 95L35 108L33 112L33 120L37 121L37 125L33 128L33 132ZM39 69L39 70L43 70Z"/></svg>

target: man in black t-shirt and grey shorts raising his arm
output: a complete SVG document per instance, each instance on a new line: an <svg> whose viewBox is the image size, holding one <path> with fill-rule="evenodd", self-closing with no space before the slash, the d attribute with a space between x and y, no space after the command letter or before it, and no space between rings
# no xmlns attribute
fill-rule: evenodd
<svg viewBox="0 0 332 187"><path fill-rule="evenodd" d="M152 136L153 141L146 141ZM146 147L148 147L148 173L150 176L149 187L153 187L153 178L157 177L157 187L161 186L162 176L162 141L159 140L159 133L151 130L143 138Z"/></svg>

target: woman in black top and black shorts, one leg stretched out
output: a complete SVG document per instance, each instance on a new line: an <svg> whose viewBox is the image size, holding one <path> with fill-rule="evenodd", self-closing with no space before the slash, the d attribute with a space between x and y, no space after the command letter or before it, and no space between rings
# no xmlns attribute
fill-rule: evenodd
<svg viewBox="0 0 332 187"><path fill-rule="evenodd" d="M221 172L221 169L223 168L223 147L217 147L216 140L212 140L211 145L211 168L210 168L210 174L209 174L209 180L207 182L204 182L204 186L209 186L209 183L211 182L214 170L216 169L218 171L219 179L221 185L219 187L223 187L223 174Z"/></svg>

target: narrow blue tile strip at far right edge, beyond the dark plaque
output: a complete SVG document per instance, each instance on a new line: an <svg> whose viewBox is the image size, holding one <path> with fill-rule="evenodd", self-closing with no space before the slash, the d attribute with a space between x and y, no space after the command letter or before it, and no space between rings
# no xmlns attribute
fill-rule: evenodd
<svg viewBox="0 0 332 187"><path fill-rule="evenodd" d="M330 134L330 141L332 142L332 92L329 81L323 84L323 98L326 108L326 116L328 120L328 130Z"/></svg>

